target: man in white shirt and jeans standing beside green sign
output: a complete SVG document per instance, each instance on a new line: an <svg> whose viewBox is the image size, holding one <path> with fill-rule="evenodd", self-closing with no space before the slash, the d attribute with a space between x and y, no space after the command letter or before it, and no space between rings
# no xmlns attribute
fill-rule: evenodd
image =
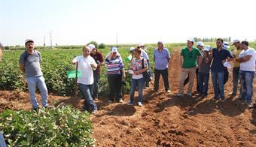
<svg viewBox="0 0 256 147"><path fill-rule="evenodd" d="M90 56L90 47L84 46L83 55L78 55L72 61L74 65L78 64L78 70L81 71L81 77L78 77L79 89L84 97L84 110L95 114L97 112L96 104L93 101L93 70L96 70L97 64Z"/></svg>

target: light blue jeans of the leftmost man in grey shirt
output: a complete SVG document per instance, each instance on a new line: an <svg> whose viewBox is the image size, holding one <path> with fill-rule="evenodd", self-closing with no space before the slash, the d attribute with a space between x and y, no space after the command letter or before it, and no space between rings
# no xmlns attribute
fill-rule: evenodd
<svg viewBox="0 0 256 147"><path fill-rule="evenodd" d="M38 101L36 100L35 90L36 86L38 86L39 91L41 92L41 103L43 107L47 107L48 101L48 91L46 84L44 82L44 77L26 77L26 82L28 83L29 87L29 97L32 103L32 107L34 109L38 108Z"/></svg>

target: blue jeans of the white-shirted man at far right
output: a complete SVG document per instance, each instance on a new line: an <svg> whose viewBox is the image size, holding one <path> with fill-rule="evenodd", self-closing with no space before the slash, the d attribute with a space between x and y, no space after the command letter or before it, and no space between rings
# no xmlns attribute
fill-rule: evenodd
<svg viewBox="0 0 256 147"><path fill-rule="evenodd" d="M254 71L239 71L242 86L242 97L248 103L252 101Z"/></svg>

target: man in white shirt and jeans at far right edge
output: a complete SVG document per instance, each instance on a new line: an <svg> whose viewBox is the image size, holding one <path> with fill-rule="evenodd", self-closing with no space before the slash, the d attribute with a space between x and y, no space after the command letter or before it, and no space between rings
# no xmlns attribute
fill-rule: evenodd
<svg viewBox="0 0 256 147"><path fill-rule="evenodd" d="M253 79L255 74L256 52L249 47L248 41L242 41L242 52L236 62L240 62L239 77L241 78L242 86L242 100L248 105L249 108L253 107Z"/></svg>

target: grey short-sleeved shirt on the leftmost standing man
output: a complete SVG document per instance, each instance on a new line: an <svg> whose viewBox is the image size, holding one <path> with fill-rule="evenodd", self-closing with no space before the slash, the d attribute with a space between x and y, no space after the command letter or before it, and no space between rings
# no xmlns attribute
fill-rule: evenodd
<svg viewBox="0 0 256 147"><path fill-rule="evenodd" d="M40 62L41 62L41 53L35 50L32 54L28 52L23 52L20 55L20 65L24 65L26 77L39 77L42 76Z"/></svg>

